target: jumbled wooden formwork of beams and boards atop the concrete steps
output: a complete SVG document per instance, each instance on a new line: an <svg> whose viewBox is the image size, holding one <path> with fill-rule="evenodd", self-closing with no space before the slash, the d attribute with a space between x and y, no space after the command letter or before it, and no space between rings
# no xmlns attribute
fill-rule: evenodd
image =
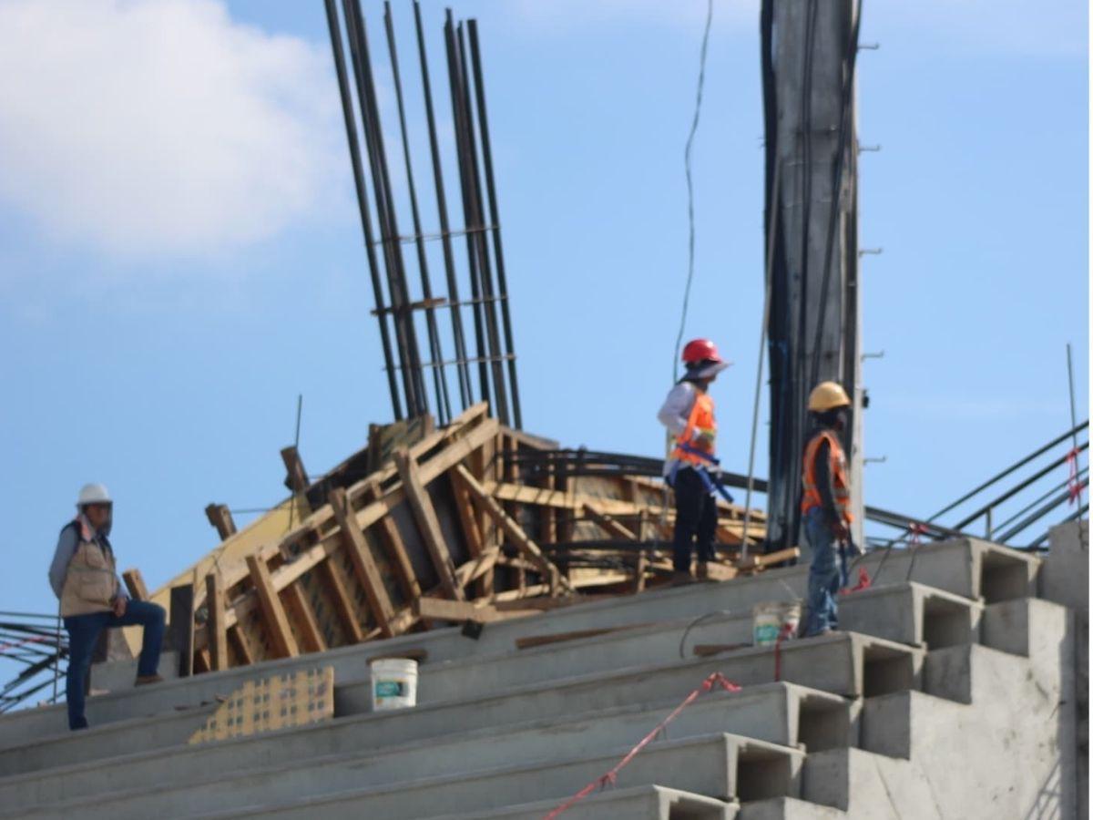
<svg viewBox="0 0 1093 820"><path fill-rule="evenodd" d="M289 447L289 500L238 531L210 505L216 549L151 596L139 572L125 578L171 610L184 675L668 583L670 490L620 470L559 469L557 453L485 403L439 430L428 417L374 426L367 448L315 481ZM719 500L718 518L713 577L787 558L741 562L743 508ZM765 517L750 520L754 546Z"/></svg>

